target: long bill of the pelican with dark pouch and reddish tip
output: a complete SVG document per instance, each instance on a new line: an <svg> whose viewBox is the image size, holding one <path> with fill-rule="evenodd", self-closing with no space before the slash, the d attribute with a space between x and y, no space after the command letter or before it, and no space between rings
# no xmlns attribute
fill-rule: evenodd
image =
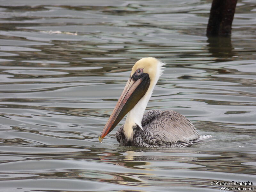
<svg viewBox="0 0 256 192"><path fill-rule="evenodd" d="M123 117L138 103L138 101L145 95L150 84L148 76L134 80L132 77L127 81L124 91L122 92L116 107L114 108L107 124L100 133L99 141L111 132L116 125L123 119Z"/></svg>

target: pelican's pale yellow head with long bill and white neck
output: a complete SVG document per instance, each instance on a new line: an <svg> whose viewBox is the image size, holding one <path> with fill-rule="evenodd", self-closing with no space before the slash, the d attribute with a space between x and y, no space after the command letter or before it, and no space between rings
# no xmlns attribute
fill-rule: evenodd
<svg viewBox="0 0 256 192"><path fill-rule="evenodd" d="M132 67L132 72L127 81L116 107L114 108L107 124L102 130L99 140L111 132L128 113L124 124L126 137L132 138L132 126L138 125L141 129L141 119L151 97L153 89L162 74L162 63L152 57L142 58Z"/></svg>

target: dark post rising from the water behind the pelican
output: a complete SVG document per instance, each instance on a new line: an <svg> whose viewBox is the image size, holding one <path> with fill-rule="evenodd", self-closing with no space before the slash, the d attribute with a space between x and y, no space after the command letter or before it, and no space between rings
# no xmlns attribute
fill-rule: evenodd
<svg viewBox="0 0 256 192"><path fill-rule="evenodd" d="M237 0L212 0L207 36L230 36Z"/></svg>

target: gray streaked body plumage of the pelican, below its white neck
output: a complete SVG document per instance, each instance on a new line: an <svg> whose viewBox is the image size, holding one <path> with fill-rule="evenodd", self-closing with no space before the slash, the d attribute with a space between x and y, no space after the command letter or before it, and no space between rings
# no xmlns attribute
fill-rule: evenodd
<svg viewBox="0 0 256 192"><path fill-rule="evenodd" d="M150 110L141 121L143 130L133 126L133 137L124 135L124 125L116 132L120 146L187 147L201 140L194 125L183 115L172 111ZM207 137L206 137L207 138Z"/></svg>

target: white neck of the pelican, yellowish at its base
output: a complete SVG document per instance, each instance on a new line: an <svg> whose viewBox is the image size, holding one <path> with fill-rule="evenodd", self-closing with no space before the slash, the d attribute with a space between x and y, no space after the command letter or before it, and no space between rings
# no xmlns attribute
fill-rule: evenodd
<svg viewBox="0 0 256 192"><path fill-rule="evenodd" d="M152 82L150 82L150 85L148 87L148 91L145 93L145 95L139 100L139 102L132 108L132 110L127 114L125 124L124 124L124 135L127 139L132 139L133 137L133 126L139 125L140 128L143 130L141 125L141 120L144 115L145 109L148 105L148 101L152 95L153 89L161 76L163 70L162 66L164 63L160 62L158 63L159 68L157 68L156 76L152 79ZM151 80L150 80L151 81Z"/></svg>

